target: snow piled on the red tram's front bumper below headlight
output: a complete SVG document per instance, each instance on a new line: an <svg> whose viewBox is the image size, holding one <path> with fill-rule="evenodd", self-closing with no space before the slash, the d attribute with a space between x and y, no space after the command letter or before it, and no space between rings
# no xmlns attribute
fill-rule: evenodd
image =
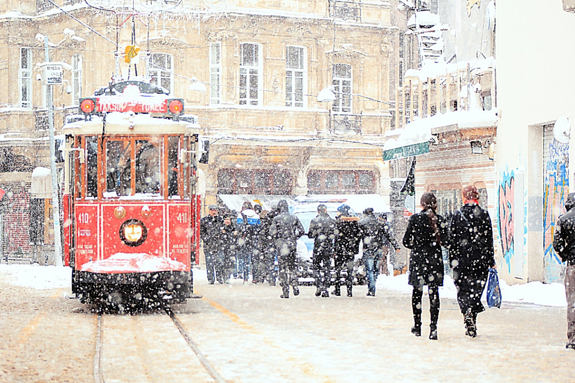
<svg viewBox="0 0 575 383"><path fill-rule="evenodd" d="M87 262L80 270L90 273L153 273L154 271L186 271L186 265L171 258L145 252L135 254L117 252L109 258Z"/></svg>

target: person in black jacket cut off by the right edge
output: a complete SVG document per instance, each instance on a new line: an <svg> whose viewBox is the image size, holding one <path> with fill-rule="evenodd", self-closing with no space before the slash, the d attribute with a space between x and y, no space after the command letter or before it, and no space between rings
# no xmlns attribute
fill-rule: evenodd
<svg viewBox="0 0 575 383"><path fill-rule="evenodd" d="M565 348L575 350L575 193L569 193L565 201L567 212L557 219L553 236L553 249L561 261L567 262L565 269L565 296L567 297L567 344Z"/></svg>

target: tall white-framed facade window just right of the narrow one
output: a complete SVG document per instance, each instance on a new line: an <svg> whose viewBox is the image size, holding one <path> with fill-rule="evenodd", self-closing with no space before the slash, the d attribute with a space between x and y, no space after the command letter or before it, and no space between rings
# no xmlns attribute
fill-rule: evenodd
<svg viewBox="0 0 575 383"><path fill-rule="evenodd" d="M259 44L240 44L240 105L259 105Z"/></svg>

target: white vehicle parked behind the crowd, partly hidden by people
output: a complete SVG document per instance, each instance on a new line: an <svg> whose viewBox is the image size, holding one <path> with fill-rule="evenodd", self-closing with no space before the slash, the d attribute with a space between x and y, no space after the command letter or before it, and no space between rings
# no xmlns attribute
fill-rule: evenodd
<svg viewBox="0 0 575 383"><path fill-rule="evenodd" d="M296 215L303 225L305 232L309 231L309 224L317 216L317 205L324 204L327 207L327 213L329 216L335 219L336 213L338 212L338 207L342 205L344 201L334 201L334 200L305 200L297 204L291 205L289 207L290 213ZM352 214L355 215L353 210L350 210ZM354 261L354 283L363 285L365 284L365 267L363 262L361 262L363 251L360 245L359 254L356 255ZM302 236L297 240L297 255L296 255L296 266L298 271L298 279L302 284L313 284L313 239L310 239L307 235ZM335 277L335 266L332 261L331 265L332 278Z"/></svg>

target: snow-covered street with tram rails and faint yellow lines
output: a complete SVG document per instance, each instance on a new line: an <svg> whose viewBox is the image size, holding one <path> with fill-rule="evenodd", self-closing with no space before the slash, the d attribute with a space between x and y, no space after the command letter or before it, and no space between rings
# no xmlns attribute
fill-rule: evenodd
<svg viewBox="0 0 575 383"><path fill-rule="evenodd" d="M42 277L48 271L53 278ZM0 267L0 381L94 381L97 315L65 298L67 272ZM26 274L36 282L25 283ZM375 298L365 296L366 286L355 286L353 298L317 298L304 286L282 300L279 287L209 285L204 273L195 275L203 298L173 311L228 382L572 381L564 307L504 299L501 309L479 316L478 337L470 339L446 284L433 342L427 328L421 338L409 332L402 277L381 277ZM102 381L213 381L164 312L105 314L102 327Z"/></svg>

